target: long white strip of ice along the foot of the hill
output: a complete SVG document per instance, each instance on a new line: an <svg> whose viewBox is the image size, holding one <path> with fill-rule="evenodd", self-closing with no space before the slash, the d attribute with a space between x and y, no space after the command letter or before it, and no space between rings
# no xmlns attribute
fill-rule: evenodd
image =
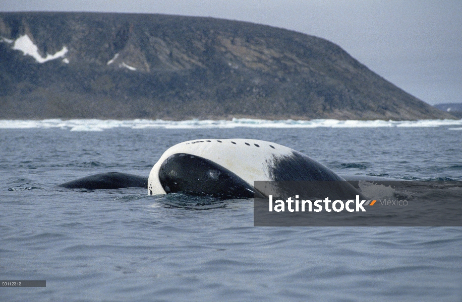
<svg viewBox="0 0 462 302"><path fill-rule="evenodd" d="M199 120L184 121L166 120L100 120L100 119L47 119L47 120L0 120L0 129L28 129L28 128L60 128L70 131L104 131L112 128L131 129L208 129L208 128L378 128L378 127L440 127L462 126L460 120L417 120L417 121L384 121L384 120L266 120L233 118L232 120ZM461 130L462 127L452 127L449 130Z"/></svg>

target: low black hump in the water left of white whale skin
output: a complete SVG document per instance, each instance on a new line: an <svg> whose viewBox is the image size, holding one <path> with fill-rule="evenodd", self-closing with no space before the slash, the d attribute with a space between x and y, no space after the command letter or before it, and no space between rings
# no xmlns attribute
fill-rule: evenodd
<svg viewBox="0 0 462 302"><path fill-rule="evenodd" d="M69 189L122 189L148 187L148 178L128 173L107 172L82 177L58 185Z"/></svg>

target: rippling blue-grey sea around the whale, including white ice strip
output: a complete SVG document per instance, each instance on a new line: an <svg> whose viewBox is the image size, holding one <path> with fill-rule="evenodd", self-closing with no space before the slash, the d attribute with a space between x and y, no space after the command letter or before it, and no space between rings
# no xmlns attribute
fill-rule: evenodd
<svg viewBox="0 0 462 302"><path fill-rule="evenodd" d="M273 141L341 174L462 180L462 121L0 121L2 301L462 301L462 228L254 227L253 201L55 185L148 175L197 138ZM239 159L236 159L239 160Z"/></svg>

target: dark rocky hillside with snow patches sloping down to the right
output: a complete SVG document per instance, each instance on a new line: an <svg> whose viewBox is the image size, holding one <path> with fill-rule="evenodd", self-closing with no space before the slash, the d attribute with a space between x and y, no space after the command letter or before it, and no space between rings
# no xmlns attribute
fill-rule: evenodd
<svg viewBox="0 0 462 302"><path fill-rule="evenodd" d="M329 41L269 26L0 13L0 39L0 118L452 117Z"/></svg>

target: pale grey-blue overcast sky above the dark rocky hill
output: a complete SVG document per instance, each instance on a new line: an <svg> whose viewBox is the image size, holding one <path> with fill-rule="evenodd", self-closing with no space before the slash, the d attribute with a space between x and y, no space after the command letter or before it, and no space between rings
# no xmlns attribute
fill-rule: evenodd
<svg viewBox="0 0 462 302"><path fill-rule="evenodd" d="M462 102L462 0L3 0L0 11L207 16L325 38L430 103Z"/></svg>

